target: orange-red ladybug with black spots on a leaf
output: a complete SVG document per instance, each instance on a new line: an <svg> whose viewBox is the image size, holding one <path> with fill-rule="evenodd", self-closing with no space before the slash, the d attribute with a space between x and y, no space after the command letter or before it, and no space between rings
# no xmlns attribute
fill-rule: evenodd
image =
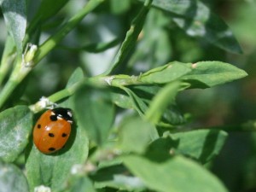
<svg viewBox="0 0 256 192"><path fill-rule="evenodd" d="M70 108L54 108L44 112L34 126L33 141L38 150L51 154L67 143L73 123Z"/></svg>

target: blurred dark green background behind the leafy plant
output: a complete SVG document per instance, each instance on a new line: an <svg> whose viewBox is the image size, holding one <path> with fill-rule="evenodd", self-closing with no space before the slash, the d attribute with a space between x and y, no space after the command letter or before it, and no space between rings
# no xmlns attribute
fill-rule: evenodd
<svg viewBox="0 0 256 192"><path fill-rule="evenodd" d="M32 20L40 1L27 1L28 20ZM247 78L206 90L185 90L177 97L177 106L191 118L187 128L219 125L241 125L256 119L256 1L204 0L212 11L223 18L238 42L243 54L228 53L201 38L189 37L158 9L151 9L131 57L119 68L119 73L139 74L169 61L224 61L240 67ZM47 25L42 26L40 42L55 32L62 21L74 15L84 0L69 1ZM140 3L131 0L109 0L68 34L61 45L33 70L20 85L21 100L37 102L65 87L76 67L93 76L104 72L113 61L119 45L101 53L90 53L86 45L107 43L125 37ZM6 39L3 15L0 20L0 50ZM37 43L37 39L32 39ZM14 101L14 104L17 101ZM20 101L19 101L20 102ZM211 165L230 191L256 191L256 134L232 131L221 154Z"/></svg>

